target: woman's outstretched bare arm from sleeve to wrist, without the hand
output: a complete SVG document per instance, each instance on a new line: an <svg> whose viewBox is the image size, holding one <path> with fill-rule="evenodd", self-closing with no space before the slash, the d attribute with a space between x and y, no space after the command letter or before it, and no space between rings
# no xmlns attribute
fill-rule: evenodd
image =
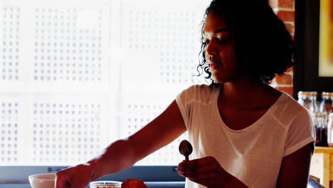
<svg viewBox="0 0 333 188"><path fill-rule="evenodd" d="M117 140L107 147L96 159L92 179L131 167L135 162L168 145L185 131L183 117L174 100L161 115L134 135L125 140Z"/></svg>

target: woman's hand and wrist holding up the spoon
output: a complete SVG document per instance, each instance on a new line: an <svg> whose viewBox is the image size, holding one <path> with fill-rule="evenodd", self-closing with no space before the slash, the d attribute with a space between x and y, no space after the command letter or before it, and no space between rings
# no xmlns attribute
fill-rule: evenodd
<svg viewBox="0 0 333 188"><path fill-rule="evenodd" d="M178 165L181 176L208 188L215 187L246 187L236 177L228 174L214 157L203 157Z"/></svg>

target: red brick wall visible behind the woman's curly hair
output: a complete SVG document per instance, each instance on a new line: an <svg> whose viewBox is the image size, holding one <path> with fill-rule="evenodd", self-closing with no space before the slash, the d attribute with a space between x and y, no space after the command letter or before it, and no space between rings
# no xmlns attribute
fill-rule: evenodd
<svg viewBox="0 0 333 188"><path fill-rule="evenodd" d="M275 14L279 16L282 21L285 22L285 26L292 38L295 33L295 0L270 0L270 6L272 6ZM273 80L272 85L278 90L285 91L290 95L293 95L292 86L293 70L287 71L285 75L277 75Z"/></svg>

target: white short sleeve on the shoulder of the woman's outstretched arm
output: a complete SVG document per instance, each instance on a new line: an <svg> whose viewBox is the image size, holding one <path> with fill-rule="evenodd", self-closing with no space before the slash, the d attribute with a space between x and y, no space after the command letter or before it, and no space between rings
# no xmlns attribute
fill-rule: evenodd
<svg viewBox="0 0 333 188"><path fill-rule="evenodd" d="M191 110L194 106L194 91L195 86L183 90L176 96L176 103L181 112L181 116L183 117L186 128L189 128L190 120L191 120Z"/></svg>

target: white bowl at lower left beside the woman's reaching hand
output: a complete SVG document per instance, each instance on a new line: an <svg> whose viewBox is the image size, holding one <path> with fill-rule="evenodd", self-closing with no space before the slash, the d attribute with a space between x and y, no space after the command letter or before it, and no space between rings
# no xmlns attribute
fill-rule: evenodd
<svg viewBox="0 0 333 188"><path fill-rule="evenodd" d="M56 174L33 174L29 176L32 188L54 188Z"/></svg>

